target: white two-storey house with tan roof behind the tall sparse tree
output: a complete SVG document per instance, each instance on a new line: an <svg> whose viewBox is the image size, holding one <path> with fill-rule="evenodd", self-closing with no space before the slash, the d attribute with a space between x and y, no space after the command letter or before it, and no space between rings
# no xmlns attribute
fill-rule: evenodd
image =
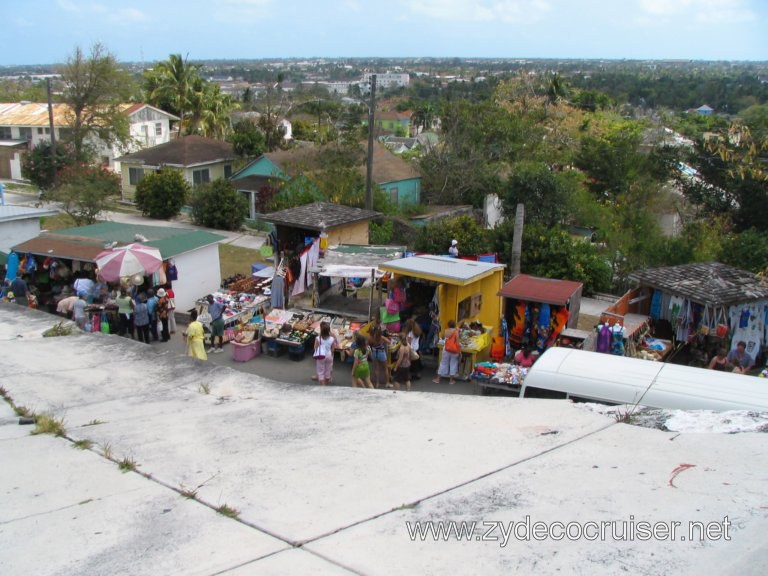
<svg viewBox="0 0 768 576"><path fill-rule="evenodd" d="M149 104L122 104L123 113L130 124L130 141L126 145L107 144L94 138L91 144L102 164L119 172L115 158L121 154L156 146L170 140L170 122L178 120ZM67 139L72 123L72 111L68 104L52 105L53 130L57 142ZM0 154L0 177L21 179L21 154L41 142L50 142L51 127L48 104L39 102L0 103L0 146L6 151ZM26 146L19 146L26 144ZM8 153L8 151L12 151Z"/></svg>

